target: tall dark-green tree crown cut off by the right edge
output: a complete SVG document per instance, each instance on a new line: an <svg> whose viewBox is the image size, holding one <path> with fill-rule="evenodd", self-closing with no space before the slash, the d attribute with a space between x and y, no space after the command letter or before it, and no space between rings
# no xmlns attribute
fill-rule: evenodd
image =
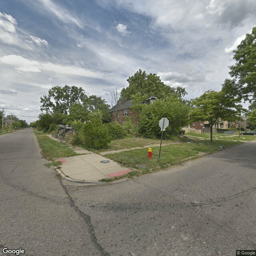
<svg viewBox="0 0 256 256"><path fill-rule="evenodd" d="M225 80L222 90L231 97L252 102L256 100L256 27L233 52L236 64L229 67L232 79Z"/></svg>

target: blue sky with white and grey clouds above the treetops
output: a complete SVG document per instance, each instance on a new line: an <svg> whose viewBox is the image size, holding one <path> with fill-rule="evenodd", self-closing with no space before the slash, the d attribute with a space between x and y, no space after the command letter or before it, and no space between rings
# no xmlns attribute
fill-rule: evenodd
<svg viewBox="0 0 256 256"><path fill-rule="evenodd" d="M138 69L195 98L254 26L255 0L1 0L0 107L30 123L65 84L110 103Z"/></svg>

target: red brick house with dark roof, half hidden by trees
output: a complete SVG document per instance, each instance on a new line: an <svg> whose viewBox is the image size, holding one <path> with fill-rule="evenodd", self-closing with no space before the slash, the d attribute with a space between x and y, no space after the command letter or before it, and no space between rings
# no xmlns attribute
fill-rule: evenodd
<svg viewBox="0 0 256 256"><path fill-rule="evenodd" d="M150 104L156 99L155 96L149 96L144 103ZM119 124L122 125L125 118L128 116L131 118L133 124L138 124L139 112L132 112L132 106L134 106L132 100L127 100L119 102L117 105L110 108L111 122L118 121Z"/></svg>

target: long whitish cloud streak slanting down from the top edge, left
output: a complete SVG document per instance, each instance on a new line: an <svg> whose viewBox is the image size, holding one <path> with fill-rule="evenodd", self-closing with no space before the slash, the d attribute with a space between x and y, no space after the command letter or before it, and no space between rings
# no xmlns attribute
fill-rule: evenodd
<svg viewBox="0 0 256 256"><path fill-rule="evenodd" d="M48 11L54 13L62 22L74 23L79 28L84 27L84 24L78 18L74 17L74 15L72 15L68 10L66 10L62 6L54 4L51 0L40 0L40 2Z"/></svg>

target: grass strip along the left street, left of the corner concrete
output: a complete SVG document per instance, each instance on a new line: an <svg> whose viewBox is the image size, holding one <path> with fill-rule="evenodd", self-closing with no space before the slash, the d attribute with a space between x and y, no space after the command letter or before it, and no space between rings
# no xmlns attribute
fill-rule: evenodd
<svg viewBox="0 0 256 256"><path fill-rule="evenodd" d="M49 161L54 161L54 158L80 155L63 143L52 140L47 135L42 134L42 132L34 131L34 133L39 142L43 157Z"/></svg>

